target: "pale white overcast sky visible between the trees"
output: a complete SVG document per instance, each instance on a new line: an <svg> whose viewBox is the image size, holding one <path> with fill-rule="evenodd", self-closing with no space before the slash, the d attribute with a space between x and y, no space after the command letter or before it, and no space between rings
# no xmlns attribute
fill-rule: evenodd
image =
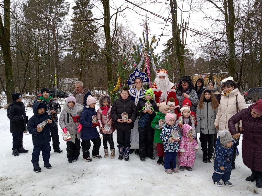
<svg viewBox="0 0 262 196"><path fill-rule="evenodd" d="M141 0L129 0L135 4L139 4L139 2L141 2ZM153 1L153 0L151 0ZM70 0L70 7L72 7L74 5L74 0ZM96 0L93 1L95 2L95 5L103 10L102 4L100 3L100 1ZM150 0L148 0L147 2L150 2ZM168 4L164 4L164 2L169 3L169 1L163 1L163 0L159 0L158 2L160 3L147 3L147 4L139 4L141 7L154 12L158 15L163 16L164 18L168 18L168 15L170 13L170 6ZM188 16L189 16L189 3L191 1L190 0L180 0L178 1L178 6L180 8L182 8L182 3L183 3L183 10L185 12L183 12L182 15L182 21L188 21ZM189 27L193 28L195 30L203 30L205 28L210 27L210 22L207 21L206 19L204 19L205 15L204 13L202 13L199 10L199 7L201 6L202 9L204 7L204 11L205 13L208 14L212 14L213 17L215 17L216 15L219 14L219 12L214 9L214 8L210 8L212 7L210 3L206 2L205 4L203 4L203 1L201 1L202 3L199 3L200 0L195 0L194 6L192 6L191 8L191 15L190 15L190 20L189 20ZM198 4L196 6L196 4ZM134 10L131 9L126 9L124 10L124 15L125 17L119 17L118 16L118 23L119 24L123 24L124 26L129 26L129 28L134 31L137 35L137 38L142 37L142 31L144 30L144 27L141 25L144 23L145 21L145 15L148 15L148 24L149 24L149 28L150 28L150 32L149 32L149 39L151 40L151 37L153 37L154 35L159 38L161 33L162 33L162 29L165 27L165 21L163 19L158 18L157 16L154 16L138 7L135 7L134 5L127 3L124 0L112 0L110 1L110 5L112 7L120 7L121 9L124 9L125 7L129 7L132 8ZM100 11L94 7L94 9L92 10L94 17L100 17L101 18L101 13ZM110 14L112 15L115 12L115 10L111 9L110 10ZM141 16L137 13L144 15ZM70 10L69 13L69 18L70 15L72 15L72 9ZM171 15L169 16L169 18L171 18ZM178 10L178 23L181 23L181 11ZM165 27L164 31L163 31L163 36L161 36L160 41L158 43L158 46L156 47L156 50L154 51L155 54L157 53L161 53L162 50L164 49L163 44L167 42L167 40L169 38L172 37L172 25L170 22L167 22L167 26ZM194 54L195 54L195 58L201 56L201 51L199 50L199 43L200 42L206 42L208 41L207 38L203 39L200 36L196 35L194 32L188 31L188 35L187 35L187 46L186 48L189 48ZM139 40L138 40L139 43Z"/></svg>

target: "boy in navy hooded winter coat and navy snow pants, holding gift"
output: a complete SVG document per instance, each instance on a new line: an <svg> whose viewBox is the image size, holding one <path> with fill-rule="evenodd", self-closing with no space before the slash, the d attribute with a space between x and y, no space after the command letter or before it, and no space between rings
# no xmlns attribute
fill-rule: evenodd
<svg viewBox="0 0 262 196"><path fill-rule="evenodd" d="M42 102L35 101L33 103L33 112L34 116L29 119L28 122L28 131L32 134L32 140L34 149L32 152L32 160L35 172L40 172L41 168L39 167L39 156L40 151L42 150L44 167L51 169L52 166L49 163L50 153L49 153L49 142L51 141L51 132L50 128L56 125L56 122L45 113L46 105ZM44 126L37 127L42 122L47 124Z"/></svg>

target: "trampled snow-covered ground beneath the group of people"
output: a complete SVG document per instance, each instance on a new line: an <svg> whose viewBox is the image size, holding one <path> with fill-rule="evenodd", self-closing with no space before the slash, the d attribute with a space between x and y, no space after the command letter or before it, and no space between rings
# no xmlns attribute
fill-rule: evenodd
<svg viewBox="0 0 262 196"><path fill-rule="evenodd" d="M26 108L26 114L33 115L32 108ZM255 182L247 182L245 178L251 174L244 166L240 155L236 158L236 169L232 171L232 187L223 185L216 187L211 179L213 164L202 162L201 149L196 153L193 171L179 171L168 175L156 160L139 160L136 154L130 155L129 162L114 159L92 158L92 162L82 160L82 151L77 162L68 163L66 158L66 142L62 139L59 127L60 148L62 154L51 151L50 164L52 169L43 167L40 155L39 165L42 172L35 173L31 163L33 149L30 134L24 134L24 147L29 153L12 155L12 134L9 129L7 112L0 109L0 195L257 195L262 189L255 187ZM6 120L7 119L7 120ZM114 143L117 148L116 134ZM52 142L51 142L52 143ZM92 143L92 142L91 142ZM103 144L102 144L103 145ZM100 154L103 156L103 147ZM108 145L109 146L109 145ZM200 146L200 144L199 144ZM92 148L92 145L91 145ZM117 151L117 149L116 149ZM177 159L178 163L178 159ZM177 164L178 166L178 164Z"/></svg>

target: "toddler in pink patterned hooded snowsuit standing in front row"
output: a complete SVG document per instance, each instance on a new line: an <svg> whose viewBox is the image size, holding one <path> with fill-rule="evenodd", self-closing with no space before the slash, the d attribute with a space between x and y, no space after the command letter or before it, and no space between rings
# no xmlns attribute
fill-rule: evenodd
<svg viewBox="0 0 262 196"><path fill-rule="evenodd" d="M182 127L183 136L181 141L179 142L180 146L180 155L179 158L179 169L188 171L192 171L192 167L195 162L195 150L198 151L198 144L195 139L192 142L189 142L189 138L194 134L195 130L188 124L184 124Z"/></svg>

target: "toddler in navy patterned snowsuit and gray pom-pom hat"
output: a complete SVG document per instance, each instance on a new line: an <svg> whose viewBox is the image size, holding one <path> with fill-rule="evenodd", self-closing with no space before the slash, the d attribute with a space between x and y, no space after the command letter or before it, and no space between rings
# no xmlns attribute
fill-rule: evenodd
<svg viewBox="0 0 262 196"><path fill-rule="evenodd" d="M222 186L219 182L221 179L225 185L233 186L229 180L232 170L233 144L236 142L228 130L219 131L218 135L212 180L219 187Z"/></svg>

